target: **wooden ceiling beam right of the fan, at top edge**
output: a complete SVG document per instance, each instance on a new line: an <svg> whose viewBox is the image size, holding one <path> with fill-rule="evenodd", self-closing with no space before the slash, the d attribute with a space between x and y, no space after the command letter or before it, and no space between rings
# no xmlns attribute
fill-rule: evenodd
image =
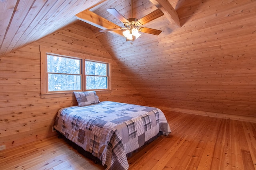
<svg viewBox="0 0 256 170"><path fill-rule="evenodd" d="M164 12L164 16L174 25L180 27L180 20L178 13L172 7L168 0L150 0L156 8L160 8Z"/></svg>

